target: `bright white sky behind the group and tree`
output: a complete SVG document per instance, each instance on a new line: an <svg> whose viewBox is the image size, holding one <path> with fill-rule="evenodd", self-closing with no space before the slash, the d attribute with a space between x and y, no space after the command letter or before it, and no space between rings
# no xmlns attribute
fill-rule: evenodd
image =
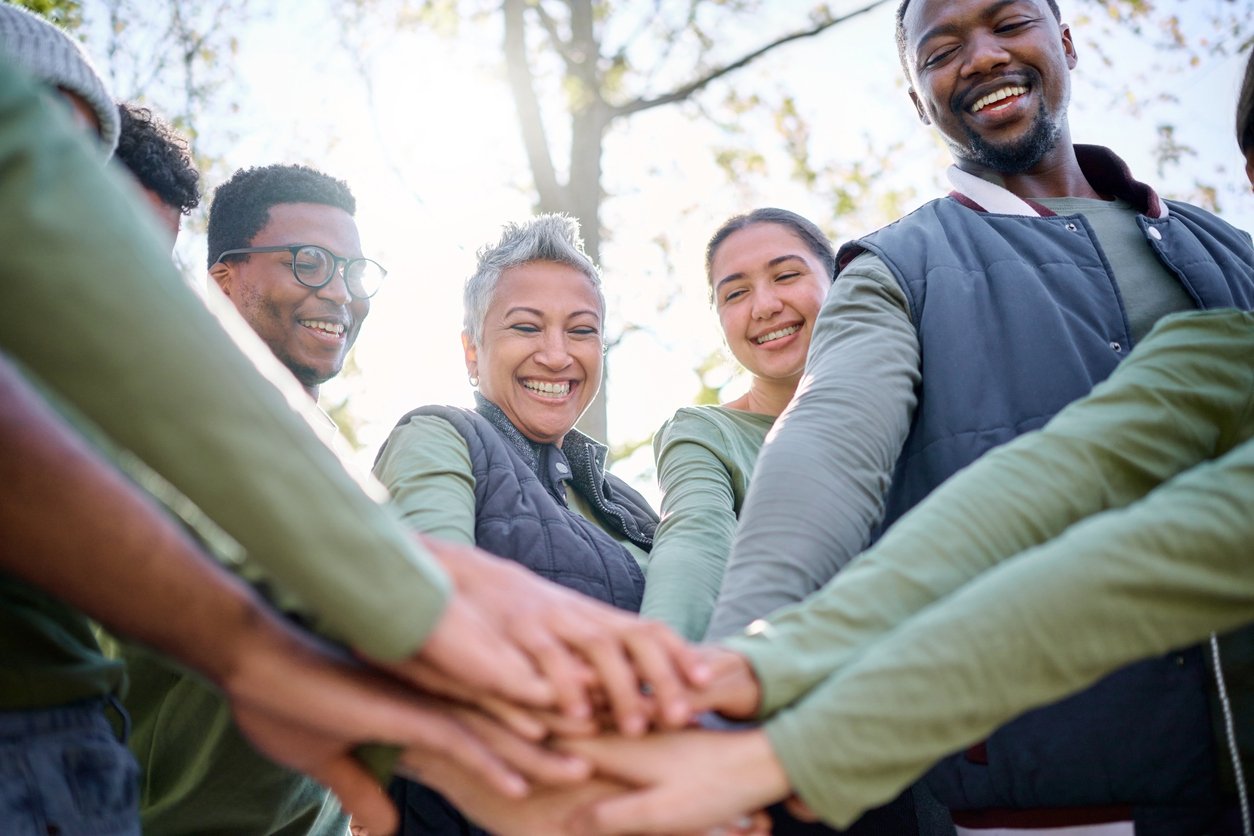
<svg viewBox="0 0 1254 836"><path fill-rule="evenodd" d="M85 3L89 21L99 20L98 3ZM256 5L248 4L250 14ZM769 13L717 29L722 54L734 56L764 33L803 25L814 4L765 5ZM840 10L861 3L830 5ZM1092 9L1080 0L1061 5L1071 20ZM1186 34L1209 34L1206 15L1233 9L1220 0L1178 0L1178 5ZM1254 0L1235 5L1246 8L1246 20L1254 18ZM423 31L377 35L364 51L375 88L371 109L359 76L344 60L337 24L322 4L278 0L275 14L236 33L238 50L229 59L233 83L222 98L238 109L199 124L202 150L224 160L226 172L214 172L211 185L240 167L302 162L346 179L357 197L366 254L390 274L359 338L361 374L324 386L324 400L351 396L351 409L364 421L365 460L405 411L429 402L469 404L459 343L461 283L475 249L532 204L513 102L498 65L499 36L490 21L461 26L466 34L482 34L469 41ZM1092 25L1077 33L1072 137L1111 145L1134 173L1165 194L1189 196L1196 182L1226 184L1229 191L1220 193L1223 216L1254 229L1254 196L1236 188L1244 174L1231 138L1244 56L1155 74L1151 64L1159 55L1145 36L1102 38L1106 65L1099 50L1087 48L1096 33ZM719 114L732 89L742 95L791 94L810 123L809 148L820 163L853 165L868 147L883 153L899 143L890 177L914 187L913 207L947 191L940 175L948 158L914 118L899 75L892 8L885 5L824 36L782 48L711 86L700 102ZM1174 100L1136 114L1126 108L1130 98L1145 102L1164 93ZM149 104L177 108L177 103L163 105L155 91L149 93ZM609 441L614 444L647 439L677 407L691 402L698 387L693 367L721 345L706 303L702 249L722 219L756 206L782 206L833 228L838 242L890 219L872 206L859 219L835 226L830 201L790 178L779 134L761 109L737 119L739 137L695 115L692 105L646 113L614 128L606 147L604 185L611 197L603 216L602 266L608 331L614 336L627 323L642 328L611 352ZM1179 140L1198 149L1198 157L1161 177L1152 162L1160 123L1178 125ZM730 147L761 152L765 170L729 183L714 163L714 149ZM202 236L184 233L178 251L203 274ZM725 395L735 396L742 385L734 381ZM650 489L651 469L647 451L617 466L656 495Z"/></svg>

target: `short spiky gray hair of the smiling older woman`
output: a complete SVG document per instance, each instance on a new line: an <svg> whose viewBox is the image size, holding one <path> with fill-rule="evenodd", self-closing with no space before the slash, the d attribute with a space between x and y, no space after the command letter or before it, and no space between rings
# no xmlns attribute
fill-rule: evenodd
<svg viewBox="0 0 1254 836"><path fill-rule="evenodd" d="M510 267L535 261L568 264L588 277L597 292L601 316L606 315L606 297L601 292L601 271L583 252L579 222L567 214L537 214L522 223L507 223L500 241L479 251L479 266L466 280L463 305L463 327L474 345L482 345L483 321L497 293L500 274Z"/></svg>

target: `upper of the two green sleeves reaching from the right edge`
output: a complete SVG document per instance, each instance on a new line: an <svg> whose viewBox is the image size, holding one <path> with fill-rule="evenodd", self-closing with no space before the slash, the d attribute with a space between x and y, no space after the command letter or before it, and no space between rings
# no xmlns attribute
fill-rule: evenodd
<svg viewBox="0 0 1254 836"><path fill-rule="evenodd" d="M1254 315L1169 317L1114 375L957 474L820 594L732 640L788 706L998 562L1129 505L1249 435Z"/></svg>

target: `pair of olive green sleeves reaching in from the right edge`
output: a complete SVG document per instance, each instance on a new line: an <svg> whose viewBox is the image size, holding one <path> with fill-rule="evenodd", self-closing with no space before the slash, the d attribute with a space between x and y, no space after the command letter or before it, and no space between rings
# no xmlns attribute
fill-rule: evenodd
<svg viewBox="0 0 1254 836"><path fill-rule="evenodd" d="M844 825L1124 664L1254 620L1254 313L1165 320L805 604L730 639L793 786Z"/></svg>

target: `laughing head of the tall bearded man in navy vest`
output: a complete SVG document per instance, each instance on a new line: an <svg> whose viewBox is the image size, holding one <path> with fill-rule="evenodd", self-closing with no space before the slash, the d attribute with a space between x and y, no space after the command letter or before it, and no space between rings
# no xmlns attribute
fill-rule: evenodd
<svg viewBox="0 0 1254 836"><path fill-rule="evenodd" d="M1045 0L912 0L910 99L958 165L1023 174L1068 153L1076 50Z"/></svg>

